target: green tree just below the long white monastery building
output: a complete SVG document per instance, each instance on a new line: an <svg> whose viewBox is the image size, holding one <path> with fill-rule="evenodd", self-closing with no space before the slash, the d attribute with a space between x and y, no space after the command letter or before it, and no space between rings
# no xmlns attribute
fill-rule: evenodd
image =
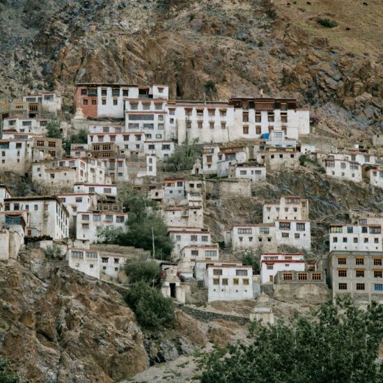
<svg viewBox="0 0 383 383"><path fill-rule="evenodd" d="M175 148L173 154L164 160L166 170L184 171L193 169L194 163L202 155L202 147L197 142L198 139L195 139L192 143L186 140L181 146Z"/></svg>

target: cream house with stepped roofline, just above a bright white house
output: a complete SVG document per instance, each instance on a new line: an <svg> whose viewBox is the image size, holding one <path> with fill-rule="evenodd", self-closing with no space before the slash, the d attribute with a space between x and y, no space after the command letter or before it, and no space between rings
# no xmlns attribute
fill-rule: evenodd
<svg viewBox="0 0 383 383"><path fill-rule="evenodd" d="M281 196L281 199L277 201L265 201L263 222L272 223L277 219L307 221L308 200L299 196Z"/></svg>

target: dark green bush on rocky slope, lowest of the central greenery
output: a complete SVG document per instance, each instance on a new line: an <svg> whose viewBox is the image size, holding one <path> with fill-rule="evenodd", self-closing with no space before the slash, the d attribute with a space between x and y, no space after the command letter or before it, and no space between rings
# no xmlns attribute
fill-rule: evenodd
<svg viewBox="0 0 383 383"><path fill-rule="evenodd" d="M141 281L134 283L125 296L125 302L136 314L142 327L157 329L174 321L174 304L161 292Z"/></svg>

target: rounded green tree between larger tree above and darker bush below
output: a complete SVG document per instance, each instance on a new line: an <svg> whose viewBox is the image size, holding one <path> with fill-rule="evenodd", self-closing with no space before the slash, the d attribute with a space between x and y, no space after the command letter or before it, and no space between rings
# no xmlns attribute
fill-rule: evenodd
<svg viewBox="0 0 383 383"><path fill-rule="evenodd" d="M132 283L143 281L154 287L161 279L161 269L155 260L131 258L126 260L124 270Z"/></svg>

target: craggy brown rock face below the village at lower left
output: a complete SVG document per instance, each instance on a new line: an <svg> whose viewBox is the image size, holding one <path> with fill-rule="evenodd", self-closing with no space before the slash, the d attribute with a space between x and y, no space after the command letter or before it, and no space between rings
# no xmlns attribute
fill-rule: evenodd
<svg viewBox="0 0 383 383"><path fill-rule="evenodd" d="M109 286L40 250L0 263L0 354L36 382L114 382L148 368L134 314Z"/></svg>

